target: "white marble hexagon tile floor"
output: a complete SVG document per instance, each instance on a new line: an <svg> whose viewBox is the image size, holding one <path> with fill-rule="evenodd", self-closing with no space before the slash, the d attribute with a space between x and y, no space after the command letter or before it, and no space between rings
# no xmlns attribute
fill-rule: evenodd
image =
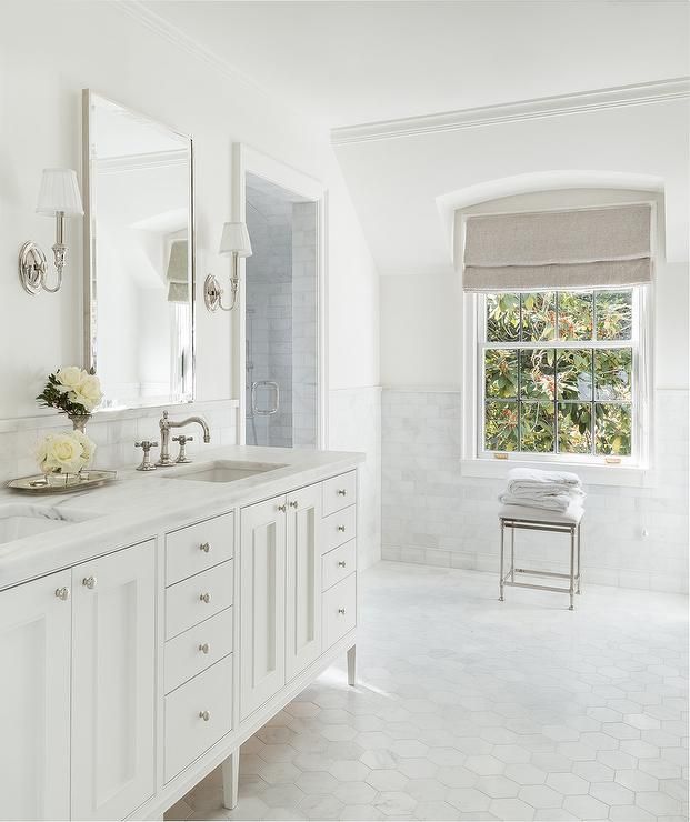
<svg viewBox="0 0 690 822"><path fill-rule="evenodd" d="M508 591L473 571L361 577L359 684L329 669L167 820L688 818L688 599ZM343 661L344 665L344 661Z"/></svg>

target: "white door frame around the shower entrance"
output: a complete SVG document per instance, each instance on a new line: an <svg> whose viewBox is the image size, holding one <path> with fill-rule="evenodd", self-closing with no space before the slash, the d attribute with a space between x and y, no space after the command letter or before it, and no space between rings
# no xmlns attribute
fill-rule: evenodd
<svg viewBox="0 0 690 822"><path fill-rule="evenodd" d="M313 177L263 154L244 143L232 146L232 214L234 220L247 222L247 174L292 191L317 203L317 448L328 443L328 190ZM246 279L246 260L240 260L240 278ZM247 352L247 299L240 288L237 322L233 323L232 343L236 351L233 392L239 399L237 442L247 444L247 397L244 391Z"/></svg>

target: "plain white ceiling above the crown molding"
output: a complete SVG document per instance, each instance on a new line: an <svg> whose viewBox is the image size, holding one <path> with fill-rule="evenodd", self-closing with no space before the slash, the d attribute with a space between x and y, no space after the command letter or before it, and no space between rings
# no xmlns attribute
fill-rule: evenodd
<svg viewBox="0 0 690 822"><path fill-rule="evenodd" d="M144 4L330 128L688 73L682 1Z"/></svg>

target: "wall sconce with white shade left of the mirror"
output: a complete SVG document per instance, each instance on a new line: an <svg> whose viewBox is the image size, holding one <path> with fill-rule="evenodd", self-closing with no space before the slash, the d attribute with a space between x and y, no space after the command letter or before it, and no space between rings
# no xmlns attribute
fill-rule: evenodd
<svg viewBox="0 0 690 822"><path fill-rule="evenodd" d="M43 169L36 212L56 218L56 243L52 247L52 255L58 280L52 288L47 284L46 254L31 241L24 242L19 251L19 279L29 294L38 294L41 290L54 294L62 285L62 270L67 262L64 218L83 214L77 172L72 169Z"/></svg>

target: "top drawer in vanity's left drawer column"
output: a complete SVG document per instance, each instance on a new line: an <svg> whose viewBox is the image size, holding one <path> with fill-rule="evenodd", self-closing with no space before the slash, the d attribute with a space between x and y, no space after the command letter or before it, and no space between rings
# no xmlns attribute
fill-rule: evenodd
<svg viewBox="0 0 690 822"><path fill-rule="evenodd" d="M234 514L214 517L166 537L166 584L172 585L232 559Z"/></svg>

